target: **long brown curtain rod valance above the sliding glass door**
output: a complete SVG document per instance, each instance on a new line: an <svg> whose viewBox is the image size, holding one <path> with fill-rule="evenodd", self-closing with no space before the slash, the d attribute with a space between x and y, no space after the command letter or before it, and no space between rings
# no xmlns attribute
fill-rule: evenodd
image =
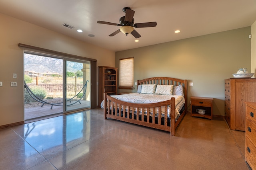
<svg viewBox="0 0 256 170"><path fill-rule="evenodd" d="M54 53L54 54L59 54L59 55L65 55L65 56L69 56L69 57L73 57L74 59L87 59L89 61L96 61L96 59L90 59L90 58L87 58L87 57L82 57L82 56L78 56L78 55L72 55L72 54L68 54L68 53L62 53L62 52L59 52L59 51L54 51L54 50L49 50L49 49L44 49L44 48L40 48L40 47L35 47L35 46L32 46L32 45L26 45L26 44L22 44L22 43L18 43L18 46L19 47L24 47L24 48L29 48L29 49L34 49L34 50L40 50L40 51L44 51L44 52L48 52L48 53Z"/></svg>

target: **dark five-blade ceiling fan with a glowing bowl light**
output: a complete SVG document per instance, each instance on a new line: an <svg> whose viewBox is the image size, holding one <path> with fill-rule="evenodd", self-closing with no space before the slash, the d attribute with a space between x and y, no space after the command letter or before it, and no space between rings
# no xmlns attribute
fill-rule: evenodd
<svg viewBox="0 0 256 170"><path fill-rule="evenodd" d="M112 37L119 33L120 31L126 35L131 33L135 38L141 37L141 35L133 28L143 28L143 27L155 27L156 22L144 22L144 23L134 23L134 10L131 10L129 7L123 8L123 12L125 12L125 16L121 17L119 19L120 23L112 23L112 22L106 22L106 21L97 21L97 23L102 23L102 24L108 24L108 25L116 25L116 26L121 26L120 29L116 30L109 36ZM134 23L134 24L133 24Z"/></svg>

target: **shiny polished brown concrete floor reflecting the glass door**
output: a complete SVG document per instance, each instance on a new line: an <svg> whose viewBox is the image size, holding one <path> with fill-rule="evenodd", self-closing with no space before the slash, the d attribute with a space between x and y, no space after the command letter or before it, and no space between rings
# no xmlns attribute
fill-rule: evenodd
<svg viewBox="0 0 256 170"><path fill-rule="evenodd" d="M1 170L247 170L245 133L187 114L176 136L91 109L0 130Z"/></svg>

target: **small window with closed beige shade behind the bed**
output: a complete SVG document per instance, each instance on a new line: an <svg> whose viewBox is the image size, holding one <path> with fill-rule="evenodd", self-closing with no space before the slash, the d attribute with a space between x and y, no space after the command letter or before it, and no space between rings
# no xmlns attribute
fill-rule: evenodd
<svg viewBox="0 0 256 170"><path fill-rule="evenodd" d="M134 58L126 58L119 60L119 88L134 89Z"/></svg>

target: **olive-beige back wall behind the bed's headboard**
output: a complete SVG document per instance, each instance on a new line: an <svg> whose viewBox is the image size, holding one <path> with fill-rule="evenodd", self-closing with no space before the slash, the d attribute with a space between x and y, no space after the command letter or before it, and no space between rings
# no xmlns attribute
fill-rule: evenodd
<svg viewBox="0 0 256 170"><path fill-rule="evenodd" d="M251 27L116 52L119 59L134 57L134 80L154 76L187 79L191 96L214 98L214 115L224 115L224 79L238 68L251 72ZM119 90L136 92L136 90ZM189 105L189 102L188 102ZM189 108L190 109L190 108Z"/></svg>

